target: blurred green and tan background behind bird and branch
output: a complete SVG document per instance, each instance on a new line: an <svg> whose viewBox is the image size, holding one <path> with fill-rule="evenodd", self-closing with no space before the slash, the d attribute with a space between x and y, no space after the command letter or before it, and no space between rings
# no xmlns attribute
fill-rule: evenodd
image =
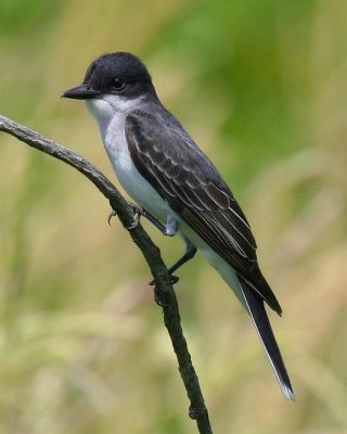
<svg viewBox="0 0 347 434"><path fill-rule="evenodd" d="M215 433L347 433L346 16L338 0L1 3L1 114L114 179L95 122L60 94L100 54L133 52L250 220L297 400L196 258L176 289ZM10 136L0 146L0 432L196 432L149 269L107 202ZM180 241L144 225L171 264Z"/></svg>

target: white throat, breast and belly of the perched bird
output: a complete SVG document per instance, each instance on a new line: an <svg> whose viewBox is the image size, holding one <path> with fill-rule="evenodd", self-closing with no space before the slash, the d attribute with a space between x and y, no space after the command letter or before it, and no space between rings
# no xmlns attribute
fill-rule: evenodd
<svg viewBox="0 0 347 434"><path fill-rule="evenodd" d="M116 95L105 95L103 99L87 100L89 111L99 123L105 150L121 187L139 205L143 206L159 221L169 222L168 229L175 227L172 221L177 221L178 231L191 240L228 285L232 288L237 298L248 310L233 268L172 212L167 202L159 196L134 167L125 137L125 120L127 115L136 110L141 102L140 98L126 100Z"/></svg>

